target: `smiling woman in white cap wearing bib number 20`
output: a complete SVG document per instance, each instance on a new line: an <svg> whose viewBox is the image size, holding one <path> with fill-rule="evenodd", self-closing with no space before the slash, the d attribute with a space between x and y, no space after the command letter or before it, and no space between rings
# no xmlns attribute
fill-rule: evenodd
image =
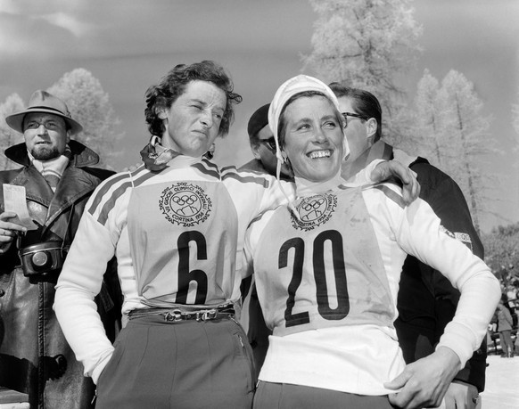
<svg viewBox="0 0 519 409"><path fill-rule="evenodd" d="M297 199L257 217L245 238L245 266L273 330L254 407L440 405L485 336L498 280L423 200L406 206L395 184L344 182L343 117L317 78L280 86L268 123L276 156L292 167ZM408 365L393 327L407 254L461 290L436 351Z"/></svg>

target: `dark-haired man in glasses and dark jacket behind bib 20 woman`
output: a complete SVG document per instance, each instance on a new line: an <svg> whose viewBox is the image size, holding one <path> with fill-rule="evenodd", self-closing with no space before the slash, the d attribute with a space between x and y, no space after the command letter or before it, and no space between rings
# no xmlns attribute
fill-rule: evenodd
<svg viewBox="0 0 519 409"><path fill-rule="evenodd" d="M392 160L416 172L421 185L420 198L440 217L441 225L483 259L482 241L474 228L470 211L459 186L440 169L424 158L408 156L384 143L382 108L374 94L332 83L330 88L339 101L346 119L344 135L350 145L350 156L342 164L342 176L349 177L375 159ZM431 355L445 325L456 312L459 291L433 267L408 256L400 276L397 299L399 317L395 328L406 363ZM456 374L445 396L446 409L472 409L485 385L486 340L474 352L465 367Z"/></svg>

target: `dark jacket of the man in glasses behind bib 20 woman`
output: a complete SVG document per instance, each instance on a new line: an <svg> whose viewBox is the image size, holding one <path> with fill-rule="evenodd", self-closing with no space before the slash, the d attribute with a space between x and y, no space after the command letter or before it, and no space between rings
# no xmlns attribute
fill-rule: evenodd
<svg viewBox="0 0 519 409"><path fill-rule="evenodd" d="M409 166L416 172L421 186L420 198L425 200L441 218L441 225L451 233L465 233L464 241L473 253L483 259L482 241L474 229L463 192L449 176L434 168L424 159ZM416 273L420 273L417 275ZM400 318L395 323L404 357L408 361L427 356L434 351L445 326L456 313L459 291L440 272L408 257L400 279L398 308ZM413 328L408 328L410 324ZM422 338L422 342L420 342ZM406 343L411 339L411 344ZM414 355L414 356L413 356ZM480 392L485 386L486 341L455 376L474 385Z"/></svg>

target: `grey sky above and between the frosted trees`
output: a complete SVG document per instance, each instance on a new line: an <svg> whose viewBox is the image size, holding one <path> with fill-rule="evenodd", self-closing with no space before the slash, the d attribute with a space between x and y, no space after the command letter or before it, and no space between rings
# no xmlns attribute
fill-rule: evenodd
<svg viewBox="0 0 519 409"><path fill-rule="evenodd" d="M519 178L511 104L519 103L519 2L416 0L424 54L407 77L409 96L423 70L450 69L473 81L493 117L491 135L505 152L489 169L502 179L495 211L519 220ZM251 159L246 124L277 86L301 73L317 15L305 0L0 0L0 103L29 100L65 72L85 68L110 94L126 134L122 168L139 160L147 141L144 92L172 66L210 59L231 73L243 95L235 124L217 144L218 163ZM312 72L305 72L312 75ZM507 224L485 217L482 228Z"/></svg>

